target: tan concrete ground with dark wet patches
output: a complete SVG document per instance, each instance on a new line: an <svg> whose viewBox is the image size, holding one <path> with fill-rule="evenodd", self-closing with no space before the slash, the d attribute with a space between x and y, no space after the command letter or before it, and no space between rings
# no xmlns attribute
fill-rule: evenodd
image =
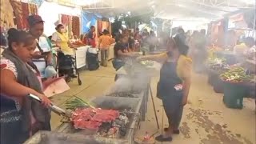
<svg viewBox="0 0 256 144"><path fill-rule="evenodd" d="M70 90L63 94L54 95L52 101L64 108L65 102L77 96L90 99L101 96L114 85L115 71L109 67L100 67L96 71L84 70L81 73L82 86L78 86L76 79L70 83ZM151 87L156 94L158 78L152 78ZM242 110L229 109L222 102L223 94L214 93L207 84L204 75L193 74L189 102L184 108L180 126L181 134L173 136L172 143L178 144L255 144L255 104L254 100L244 98ZM162 102L154 97L158 114L160 130L154 118L151 98L148 102L146 121L141 122L140 129L136 131L135 139L142 138L146 132L149 134L162 133L162 127L167 126L166 115L162 111ZM52 128L56 129L61 124L61 118L52 114ZM162 124L163 122L163 124ZM156 135L158 135L156 134ZM156 142L158 143L158 142ZM170 142L166 142L170 143Z"/></svg>

